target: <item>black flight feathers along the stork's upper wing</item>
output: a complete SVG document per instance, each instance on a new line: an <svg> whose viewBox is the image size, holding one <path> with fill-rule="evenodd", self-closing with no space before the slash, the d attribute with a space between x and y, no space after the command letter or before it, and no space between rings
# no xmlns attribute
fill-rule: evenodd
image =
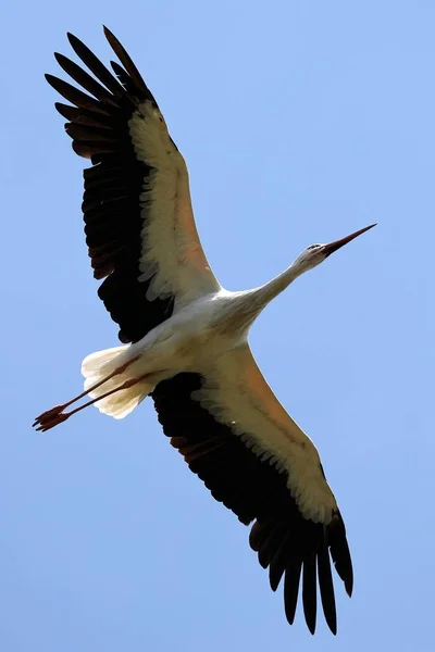
<svg viewBox="0 0 435 652"><path fill-rule="evenodd" d="M46 77L74 104L57 102L55 108L69 121L65 129L74 151L92 163L84 172L83 212L94 276L104 279L98 294L120 325L121 341L134 342L169 318L174 304L172 296L148 301L152 278L138 280L147 218L139 196L152 168L136 158L128 121L140 102L157 103L124 48L109 30L105 34L126 66L114 66L122 83L71 34L75 53L97 79L63 54L55 54L59 64L87 92L53 75Z"/></svg>

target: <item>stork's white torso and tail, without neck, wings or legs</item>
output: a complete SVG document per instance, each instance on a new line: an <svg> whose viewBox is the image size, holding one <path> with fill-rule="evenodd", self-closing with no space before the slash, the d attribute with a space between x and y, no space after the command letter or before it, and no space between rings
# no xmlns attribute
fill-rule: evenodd
<svg viewBox="0 0 435 652"><path fill-rule="evenodd" d="M97 408L115 418L122 418L150 394L160 380L182 372L204 371L212 361L245 344L250 325L247 322L249 317L252 319L250 297L249 291L229 292L221 289L182 305L139 341L86 358L82 369L88 386L125 365L125 372L112 380L113 387L130 377L147 376L144 383L132 388L130 396L135 397L132 403L125 400L117 403L117 397L113 396L99 400ZM96 398L107 390L104 384L90 396ZM124 399L125 393L122 397Z"/></svg>

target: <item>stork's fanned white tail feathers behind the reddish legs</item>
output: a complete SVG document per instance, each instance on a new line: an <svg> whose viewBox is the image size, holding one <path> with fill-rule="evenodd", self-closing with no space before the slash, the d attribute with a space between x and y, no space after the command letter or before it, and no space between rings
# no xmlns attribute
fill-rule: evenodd
<svg viewBox="0 0 435 652"><path fill-rule="evenodd" d="M85 376L85 390L97 385L97 383L100 383L117 368L125 365L130 356L129 352L128 354L126 353L128 350L128 346L114 347L113 349L105 349L104 351L97 351L87 355L82 363L82 374ZM94 391L89 391L88 394L92 399L97 399L108 391L121 387L127 380L140 376L141 373L138 372L136 364L132 363L125 371L116 374ZM109 414L114 418L123 418L152 391L153 387L154 385L151 383L136 383L127 389L122 389L105 399L97 401L96 408L103 414Z"/></svg>

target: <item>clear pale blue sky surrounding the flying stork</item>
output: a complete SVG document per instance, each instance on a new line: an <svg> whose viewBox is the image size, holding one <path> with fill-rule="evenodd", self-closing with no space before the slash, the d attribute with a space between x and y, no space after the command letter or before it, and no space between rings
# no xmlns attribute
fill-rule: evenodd
<svg viewBox="0 0 435 652"><path fill-rule="evenodd" d="M4 652L434 650L432 0L101 0L1 9L0 648ZM338 636L282 590L169 444L151 401L46 435L89 352L82 167L45 72L65 32L129 50L191 176L221 283L266 281L311 242L378 226L300 278L251 344L320 449L356 584Z"/></svg>

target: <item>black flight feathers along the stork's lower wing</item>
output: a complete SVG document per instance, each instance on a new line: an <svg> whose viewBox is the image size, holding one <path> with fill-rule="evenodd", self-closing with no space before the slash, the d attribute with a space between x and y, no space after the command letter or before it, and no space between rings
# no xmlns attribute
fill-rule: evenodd
<svg viewBox="0 0 435 652"><path fill-rule="evenodd" d="M159 421L171 443L213 497L252 528L249 543L259 562L270 568L276 590L284 580L285 612L293 623L302 575L302 601L307 625L313 634L316 619L316 578L331 630L336 631L331 554L346 586L352 566L346 530L337 512L327 526L304 518L287 488L288 476L261 461L240 437L216 422L191 392L200 389L199 374L178 374L160 383L152 393ZM316 574L316 565L319 573Z"/></svg>

